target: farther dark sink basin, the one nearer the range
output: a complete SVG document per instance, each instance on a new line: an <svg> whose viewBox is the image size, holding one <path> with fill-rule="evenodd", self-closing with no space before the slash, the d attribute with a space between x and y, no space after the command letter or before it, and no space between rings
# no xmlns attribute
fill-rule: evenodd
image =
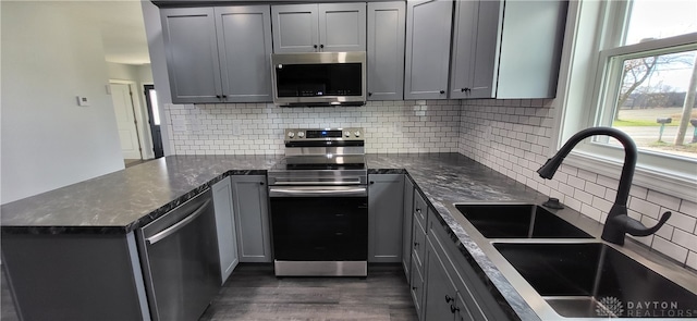
<svg viewBox="0 0 697 321"><path fill-rule="evenodd" d="M461 203L455 208L487 238L592 238L537 205Z"/></svg>

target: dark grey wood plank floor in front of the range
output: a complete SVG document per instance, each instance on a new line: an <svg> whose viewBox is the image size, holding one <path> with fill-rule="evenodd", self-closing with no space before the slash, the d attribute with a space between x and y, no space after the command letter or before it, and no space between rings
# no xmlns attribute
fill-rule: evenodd
<svg viewBox="0 0 697 321"><path fill-rule="evenodd" d="M200 320L414 320L401 266L370 266L368 277L276 277L241 264Z"/></svg>

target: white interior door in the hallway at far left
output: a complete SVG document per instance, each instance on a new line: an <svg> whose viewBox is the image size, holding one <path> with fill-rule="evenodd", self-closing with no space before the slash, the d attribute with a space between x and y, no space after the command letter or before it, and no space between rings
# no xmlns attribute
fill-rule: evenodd
<svg viewBox="0 0 697 321"><path fill-rule="evenodd" d="M143 159L136 128L131 87L126 84L110 84L113 111L117 114L121 152L124 159Z"/></svg>

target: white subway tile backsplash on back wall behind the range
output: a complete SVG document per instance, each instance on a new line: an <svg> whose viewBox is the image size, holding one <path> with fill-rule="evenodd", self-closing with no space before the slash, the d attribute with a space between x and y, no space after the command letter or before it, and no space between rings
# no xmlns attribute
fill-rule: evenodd
<svg viewBox="0 0 697 321"><path fill-rule="evenodd" d="M365 127L367 152L457 152L460 101L375 101L363 107L167 104L175 155L283 153L283 129Z"/></svg>

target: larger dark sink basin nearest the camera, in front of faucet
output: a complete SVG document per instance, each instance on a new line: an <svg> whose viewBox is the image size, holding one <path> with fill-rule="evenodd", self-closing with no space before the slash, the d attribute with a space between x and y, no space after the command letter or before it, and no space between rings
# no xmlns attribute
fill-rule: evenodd
<svg viewBox="0 0 697 321"><path fill-rule="evenodd" d="M697 316L696 294L602 243L493 246L560 316Z"/></svg>

